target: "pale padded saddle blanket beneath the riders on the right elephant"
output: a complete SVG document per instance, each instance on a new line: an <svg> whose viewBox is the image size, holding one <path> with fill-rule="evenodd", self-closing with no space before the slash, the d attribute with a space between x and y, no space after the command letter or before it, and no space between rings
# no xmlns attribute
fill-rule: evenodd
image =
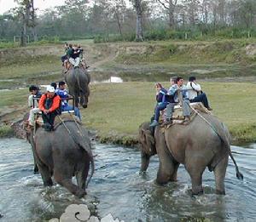
<svg viewBox="0 0 256 222"><path fill-rule="evenodd" d="M192 122L196 116L196 112L194 110L212 115L212 113L208 111L207 108L201 102L190 103L191 114L189 117L190 119L189 122ZM166 124L163 124L165 120L166 120L166 109L164 111L161 111L160 113L160 126L162 127L166 126ZM174 111L172 113L172 124L169 124L169 126L172 126L174 124L183 124L183 121L184 121L183 107L180 105L175 105Z"/></svg>

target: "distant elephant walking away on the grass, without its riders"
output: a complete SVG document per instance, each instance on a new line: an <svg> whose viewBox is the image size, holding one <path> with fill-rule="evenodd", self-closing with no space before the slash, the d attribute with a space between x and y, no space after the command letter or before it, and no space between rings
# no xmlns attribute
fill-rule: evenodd
<svg viewBox="0 0 256 222"><path fill-rule="evenodd" d="M83 67L72 68L65 74L65 81L69 93L74 97L75 106L78 107L80 103L80 105L86 108L88 105L88 97L90 95L90 74L88 71Z"/></svg>

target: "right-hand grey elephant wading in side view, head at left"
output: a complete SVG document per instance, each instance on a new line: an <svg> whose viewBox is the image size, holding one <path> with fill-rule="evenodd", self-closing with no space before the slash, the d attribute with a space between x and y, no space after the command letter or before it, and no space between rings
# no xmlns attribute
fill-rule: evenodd
<svg viewBox="0 0 256 222"><path fill-rule="evenodd" d="M205 120L204 120L205 119ZM175 124L169 128L149 128L149 122L139 127L139 142L142 145L141 172L148 168L149 159L157 154L160 165L156 182L160 185L177 179L177 168L182 163L192 182L192 193L202 189L202 174L205 168L213 170L216 192L225 194L224 177L230 151L230 133L217 117L209 114L196 115L189 125ZM236 177L242 179L236 165Z"/></svg>

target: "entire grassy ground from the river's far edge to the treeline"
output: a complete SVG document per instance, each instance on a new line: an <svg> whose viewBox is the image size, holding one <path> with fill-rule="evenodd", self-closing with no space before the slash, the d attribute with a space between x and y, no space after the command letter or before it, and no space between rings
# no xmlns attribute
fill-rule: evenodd
<svg viewBox="0 0 256 222"><path fill-rule="evenodd" d="M86 59L88 58L92 67L92 76L104 76L106 73L111 76L111 73L115 73L128 81L90 85L89 108L81 110L83 122L86 127L96 129L102 142L131 145L137 141L139 124L148 121L153 115L153 81L167 80L170 75L181 75L187 79L191 74L199 79L233 77L233 81L236 77L255 77L256 57L247 57L245 51L247 44L253 43L253 39L109 45L79 40L72 43L87 45ZM35 46L32 48L36 49ZM36 51L39 50L45 51L44 48L38 48ZM1 126L14 121L26 111L29 84L45 84L62 79L61 62L57 55L38 55L30 60L14 60L12 65L8 62L1 64L0 89L15 88L12 91L0 91ZM237 61L246 62L234 63L236 57L240 58ZM151 76L154 77L150 78ZM245 83L206 81L201 84L208 94L214 114L229 126L234 141L238 142L256 140L256 120L253 119L256 109L255 80L254 83L246 83L245 78L243 82ZM167 87L168 83L165 85ZM16 89L20 87L26 89ZM9 134L8 128L5 127L3 133L7 134L6 132Z"/></svg>

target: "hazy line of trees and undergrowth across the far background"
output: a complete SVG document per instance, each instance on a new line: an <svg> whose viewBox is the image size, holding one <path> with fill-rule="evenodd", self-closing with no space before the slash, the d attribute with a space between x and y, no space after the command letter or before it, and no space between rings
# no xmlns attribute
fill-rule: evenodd
<svg viewBox="0 0 256 222"><path fill-rule="evenodd" d="M38 14L33 0L0 15L1 41L256 37L255 0L66 0Z"/></svg>

